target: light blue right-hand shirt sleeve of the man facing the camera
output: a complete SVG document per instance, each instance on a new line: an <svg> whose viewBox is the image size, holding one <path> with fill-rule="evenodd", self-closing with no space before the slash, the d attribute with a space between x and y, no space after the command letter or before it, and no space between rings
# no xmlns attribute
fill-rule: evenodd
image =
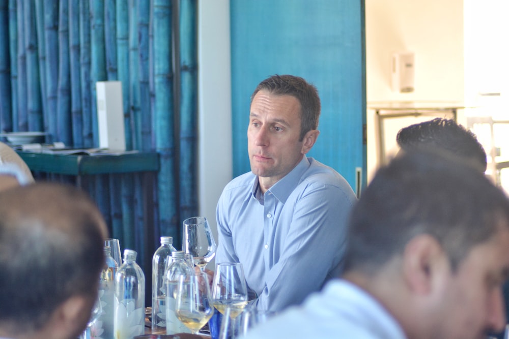
<svg viewBox="0 0 509 339"><path fill-rule="evenodd" d="M304 190L294 201L294 215L281 256L266 274L256 300L262 310L280 311L299 304L337 274L345 252L348 215L355 196L322 184ZM329 275L329 276L328 276Z"/></svg>

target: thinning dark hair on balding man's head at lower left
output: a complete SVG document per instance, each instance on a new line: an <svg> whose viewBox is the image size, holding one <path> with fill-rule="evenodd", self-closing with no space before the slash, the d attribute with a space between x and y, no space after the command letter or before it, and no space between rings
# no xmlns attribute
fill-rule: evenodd
<svg viewBox="0 0 509 339"><path fill-rule="evenodd" d="M37 330L69 297L95 298L106 232L76 188L36 183L0 193L0 323Z"/></svg>

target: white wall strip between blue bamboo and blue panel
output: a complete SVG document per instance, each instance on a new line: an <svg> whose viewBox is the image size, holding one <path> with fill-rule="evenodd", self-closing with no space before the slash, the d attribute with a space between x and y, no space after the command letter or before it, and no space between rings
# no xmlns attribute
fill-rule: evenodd
<svg viewBox="0 0 509 339"><path fill-rule="evenodd" d="M215 208L232 179L230 1L198 3L199 204L217 242ZM213 268L214 262L208 268Z"/></svg>

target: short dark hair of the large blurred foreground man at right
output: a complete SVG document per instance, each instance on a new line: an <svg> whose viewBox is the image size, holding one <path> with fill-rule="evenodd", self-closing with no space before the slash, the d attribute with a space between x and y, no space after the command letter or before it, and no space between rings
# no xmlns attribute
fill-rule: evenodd
<svg viewBox="0 0 509 339"><path fill-rule="evenodd" d="M345 271L376 272L418 234L436 238L456 269L502 226L509 201L483 173L450 153L416 148L380 168L354 206Z"/></svg>

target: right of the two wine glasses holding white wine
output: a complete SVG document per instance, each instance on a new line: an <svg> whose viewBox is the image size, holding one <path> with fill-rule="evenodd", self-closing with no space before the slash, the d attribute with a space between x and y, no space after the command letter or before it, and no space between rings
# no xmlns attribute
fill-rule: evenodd
<svg viewBox="0 0 509 339"><path fill-rule="evenodd" d="M212 303L217 311L237 317L247 304L247 286L241 263L218 263L212 282Z"/></svg>

